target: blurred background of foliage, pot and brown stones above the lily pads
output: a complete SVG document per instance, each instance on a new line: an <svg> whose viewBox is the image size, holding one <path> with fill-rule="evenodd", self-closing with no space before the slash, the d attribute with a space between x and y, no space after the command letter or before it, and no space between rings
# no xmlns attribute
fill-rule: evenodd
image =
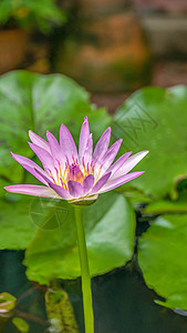
<svg viewBox="0 0 187 333"><path fill-rule="evenodd" d="M111 112L144 85L187 83L186 0L1 0L0 73L64 73Z"/></svg>

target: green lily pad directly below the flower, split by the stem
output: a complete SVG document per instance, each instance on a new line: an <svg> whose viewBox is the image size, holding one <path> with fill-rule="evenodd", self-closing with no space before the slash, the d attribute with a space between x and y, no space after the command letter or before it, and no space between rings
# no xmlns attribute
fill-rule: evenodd
<svg viewBox="0 0 187 333"><path fill-rule="evenodd" d="M55 225L62 209L62 225L48 231L48 221L44 229L42 224L25 253L27 275L40 284L48 284L54 279L75 279L81 274L74 209L64 201L60 205L55 208L58 216L52 212L48 221L52 225L53 220ZM67 214L64 219L65 209ZM83 222L92 275L122 266L132 258L135 215L123 194L100 195L94 204L83 208Z"/></svg>

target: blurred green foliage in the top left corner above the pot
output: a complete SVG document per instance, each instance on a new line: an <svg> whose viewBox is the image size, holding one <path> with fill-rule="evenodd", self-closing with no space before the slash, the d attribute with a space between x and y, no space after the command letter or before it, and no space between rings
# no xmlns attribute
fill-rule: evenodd
<svg viewBox="0 0 187 333"><path fill-rule="evenodd" d="M52 26L62 24L64 20L64 12L55 4L54 0L0 1L0 26L13 21L23 29L38 28L46 33Z"/></svg>

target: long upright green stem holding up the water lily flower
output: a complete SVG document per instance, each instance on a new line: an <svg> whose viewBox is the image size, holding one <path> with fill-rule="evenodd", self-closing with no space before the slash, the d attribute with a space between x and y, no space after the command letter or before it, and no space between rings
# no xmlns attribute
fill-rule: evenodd
<svg viewBox="0 0 187 333"><path fill-rule="evenodd" d="M84 307L84 326L85 333L94 333L94 316L92 306L92 289L91 276L89 271L89 259L85 242L84 226L82 222L82 209L81 206L74 206L75 222L77 232L77 244L80 252L80 264L82 275L82 293L83 293L83 307Z"/></svg>

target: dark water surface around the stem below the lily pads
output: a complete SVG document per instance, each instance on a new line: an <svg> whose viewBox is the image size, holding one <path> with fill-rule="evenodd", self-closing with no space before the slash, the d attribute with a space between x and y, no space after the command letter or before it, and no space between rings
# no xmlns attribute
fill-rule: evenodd
<svg viewBox="0 0 187 333"><path fill-rule="evenodd" d="M46 332L43 291L28 282L22 260L23 252L0 251L0 292L15 295L19 311L33 316L28 320L30 333ZM64 281L62 286L70 294L82 333L81 282ZM136 263L93 279L93 295L95 333L187 333L187 317L154 303L158 296L146 287ZM3 332L18 330L9 322Z"/></svg>

